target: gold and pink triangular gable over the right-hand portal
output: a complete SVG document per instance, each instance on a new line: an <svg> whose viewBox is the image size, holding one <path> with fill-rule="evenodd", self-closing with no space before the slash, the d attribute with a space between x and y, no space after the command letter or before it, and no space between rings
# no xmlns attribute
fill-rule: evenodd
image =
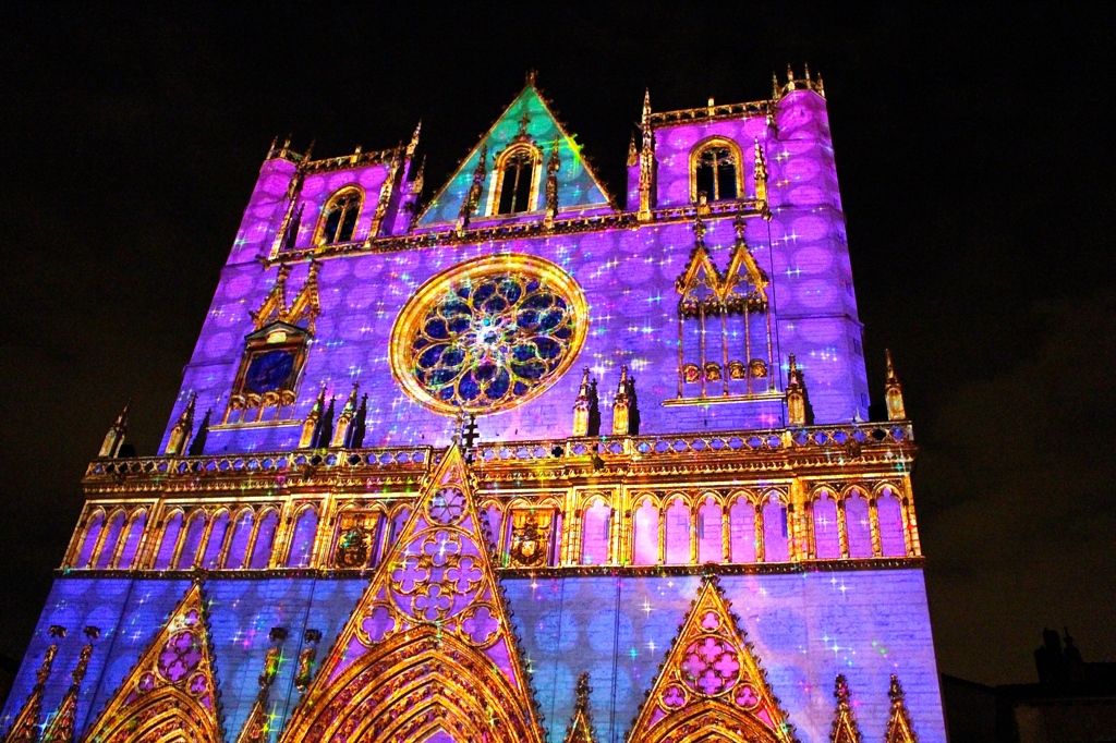
<svg viewBox="0 0 1116 743"><path fill-rule="evenodd" d="M703 580L627 740L690 740L700 730L723 731L727 740L795 740L715 577Z"/></svg>

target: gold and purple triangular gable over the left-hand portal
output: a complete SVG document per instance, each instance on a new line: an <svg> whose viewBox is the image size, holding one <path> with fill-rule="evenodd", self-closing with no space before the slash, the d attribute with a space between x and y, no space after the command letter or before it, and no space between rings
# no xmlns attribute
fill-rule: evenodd
<svg viewBox="0 0 1116 743"><path fill-rule="evenodd" d="M224 740L201 585L186 591L86 736L88 743Z"/></svg>

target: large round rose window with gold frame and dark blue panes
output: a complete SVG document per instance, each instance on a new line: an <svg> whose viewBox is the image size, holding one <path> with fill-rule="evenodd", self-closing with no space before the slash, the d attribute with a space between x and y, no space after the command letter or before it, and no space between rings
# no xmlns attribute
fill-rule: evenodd
<svg viewBox="0 0 1116 743"><path fill-rule="evenodd" d="M565 374L588 317L581 288L549 261L516 253L462 263L403 307L392 329L392 372L436 413L507 409Z"/></svg>

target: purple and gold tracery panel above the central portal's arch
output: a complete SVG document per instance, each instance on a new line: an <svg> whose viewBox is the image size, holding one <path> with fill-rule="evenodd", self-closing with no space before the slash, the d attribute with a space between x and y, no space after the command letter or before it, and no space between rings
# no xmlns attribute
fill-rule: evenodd
<svg viewBox="0 0 1116 743"><path fill-rule="evenodd" d="M357 629L371 647L416 625L436 625L487 649L500 638L497 597L485 586L480 544L455 486L440 489L416 517L395 568Z"/></svg>

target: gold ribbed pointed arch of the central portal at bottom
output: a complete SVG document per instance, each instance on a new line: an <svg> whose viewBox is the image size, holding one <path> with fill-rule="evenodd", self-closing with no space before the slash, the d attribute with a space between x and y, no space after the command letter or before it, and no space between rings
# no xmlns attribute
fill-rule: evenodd
<svg viewBox="0 0 1116 743"><path fill-rule="evenodd" d="M311 692L280 740L425 743L439 731L459 742L535 740L516 698L481 652L421 626L386 638L319 694Z"/></svg>

